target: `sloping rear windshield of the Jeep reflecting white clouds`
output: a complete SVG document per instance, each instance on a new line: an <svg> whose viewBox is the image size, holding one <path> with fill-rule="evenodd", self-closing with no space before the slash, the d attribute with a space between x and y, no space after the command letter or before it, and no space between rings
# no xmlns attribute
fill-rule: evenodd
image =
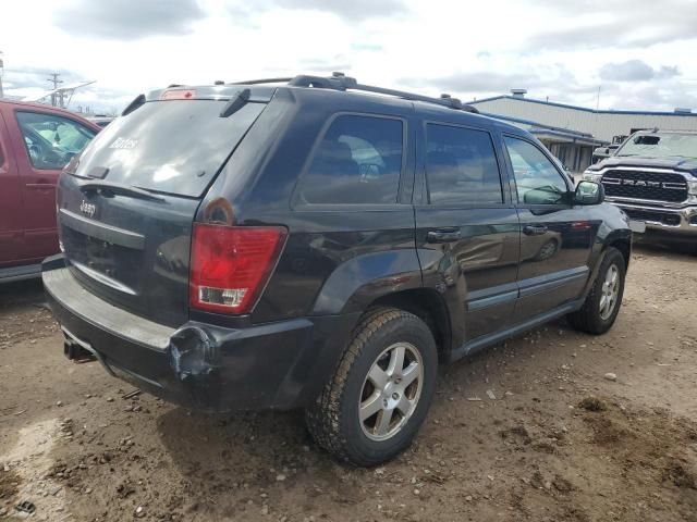
<svg viewBox="0 0 697 522"><path fill-rule="evenodd" d="M247 103L231 116L220 117L225 103L145 103L97 135L85 149L78 174L198 197L266 107Z"/></svg>

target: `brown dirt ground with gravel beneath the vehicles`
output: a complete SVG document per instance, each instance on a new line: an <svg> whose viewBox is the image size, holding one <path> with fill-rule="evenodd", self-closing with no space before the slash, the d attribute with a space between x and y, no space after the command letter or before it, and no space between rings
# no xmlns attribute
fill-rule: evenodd
<svg viewBox="0 0 697 522"><path fill-rule="evenodd" d="M63 358L39 284L1 287L0 519L697 521L696 269L636 248L609 334L560 321L443 368L416 444L371 470L297 412L124 398Z"/></svg>

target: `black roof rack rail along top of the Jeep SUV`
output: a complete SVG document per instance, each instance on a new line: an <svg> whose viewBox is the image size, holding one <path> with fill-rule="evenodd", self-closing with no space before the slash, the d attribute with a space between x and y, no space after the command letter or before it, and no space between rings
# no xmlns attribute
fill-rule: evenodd
<svg viewBox="0 0 697 522"><path fill-rule="evenodd" d="M289 78L266 78L266 79L250 79L247 82L235 82L232 85L259 85L259 84L278 84L288 83L293 87L315 87L320 89L333 89L333 90L359 90L363 92L375 92L378 95L394 96L409 101L425 101L427 103L436 103L438 105L448 107L465 112L473 112L478 114L477 108L463 103L460 99L453 98L450 95L440 95L440 98L432 98L430 96L417 95L415 92L407 92L405 90L388 89L386 87L377 87L374 85L359 84L356 78L346 76L344 73L334 72L331 76L313 76L301 74Z"/></svg>

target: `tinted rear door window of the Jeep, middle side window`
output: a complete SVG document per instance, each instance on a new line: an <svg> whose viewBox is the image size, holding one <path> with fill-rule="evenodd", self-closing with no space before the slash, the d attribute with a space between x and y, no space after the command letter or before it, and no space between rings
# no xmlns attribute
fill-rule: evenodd
<svg viewBox="0 0 697 522"><path fill-rule="evenodd" d="M427 125L426 176L431 204L501 204L501 175L485 130Z"/></svg>

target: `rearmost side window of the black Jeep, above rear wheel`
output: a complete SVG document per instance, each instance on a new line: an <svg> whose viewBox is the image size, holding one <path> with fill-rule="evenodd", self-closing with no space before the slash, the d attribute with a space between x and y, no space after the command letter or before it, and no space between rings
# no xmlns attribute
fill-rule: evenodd
<svg viewBox="0 0 697 522"><path fill-rule="evenodd" d="M395 203L402 172L401 120L340 115L315 151L298 199L310 204Z"/></svg>

